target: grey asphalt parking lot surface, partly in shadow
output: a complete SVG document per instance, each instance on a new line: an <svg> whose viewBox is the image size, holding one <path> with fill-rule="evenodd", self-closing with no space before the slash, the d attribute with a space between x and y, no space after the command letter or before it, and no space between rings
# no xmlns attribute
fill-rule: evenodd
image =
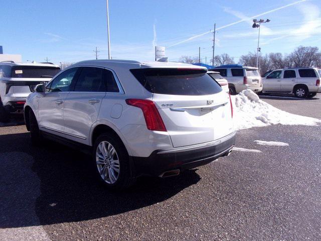
<svg viewBox="0 0 321 241"><path fill-rule="evenodd" d="M321 118L321 94L262 97ZM90 158L53 142L31 146L19 118L0 127L1 240L320 240L321 127L239 131L229 157L177 177L97 186ZM254 140L289 146L260 146Z"/></svg>

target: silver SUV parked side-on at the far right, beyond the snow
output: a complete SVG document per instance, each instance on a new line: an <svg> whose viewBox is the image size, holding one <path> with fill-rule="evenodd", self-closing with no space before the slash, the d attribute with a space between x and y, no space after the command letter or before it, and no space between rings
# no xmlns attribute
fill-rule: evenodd
<svg viewBox="0 0 321 241"><path fill-rule="evenodd" d="M313 97L321 93L320 69L276 69L263 78L262 93L294 94L296 97Z"/></svg>

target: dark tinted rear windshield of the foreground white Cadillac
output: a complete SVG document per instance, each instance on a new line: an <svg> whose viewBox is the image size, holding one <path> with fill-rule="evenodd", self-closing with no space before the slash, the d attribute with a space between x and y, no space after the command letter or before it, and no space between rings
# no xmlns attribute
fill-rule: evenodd
<svg viewBox="0 0 321 241"><path fill-rule="evenodd" d="M222 91L221 86L207 74L207 70L146 68L130 71L151 93L207 95Z"/></svg>

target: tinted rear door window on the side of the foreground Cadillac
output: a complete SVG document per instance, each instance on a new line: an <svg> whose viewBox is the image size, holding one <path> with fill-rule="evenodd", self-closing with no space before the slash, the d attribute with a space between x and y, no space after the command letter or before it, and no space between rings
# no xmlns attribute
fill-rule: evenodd
<svg viewBox="0 0 321 241"><path fill-rule="evenodd" d="M103 70L96 67L82 67L74 91L106 92Z"/></svg>

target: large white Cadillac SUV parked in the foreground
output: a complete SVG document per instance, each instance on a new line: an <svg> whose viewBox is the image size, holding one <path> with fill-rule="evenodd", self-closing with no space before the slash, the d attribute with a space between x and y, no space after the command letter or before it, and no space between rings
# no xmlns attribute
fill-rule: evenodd
<svg viewBox="0 0 321 241"><path fill-rule="evenodd" d="M228 155L235 143L229 95L181 63L89 60L36 86L25 104L33 142L43 137L92 155L108 188L167 177Z"/></svg>

